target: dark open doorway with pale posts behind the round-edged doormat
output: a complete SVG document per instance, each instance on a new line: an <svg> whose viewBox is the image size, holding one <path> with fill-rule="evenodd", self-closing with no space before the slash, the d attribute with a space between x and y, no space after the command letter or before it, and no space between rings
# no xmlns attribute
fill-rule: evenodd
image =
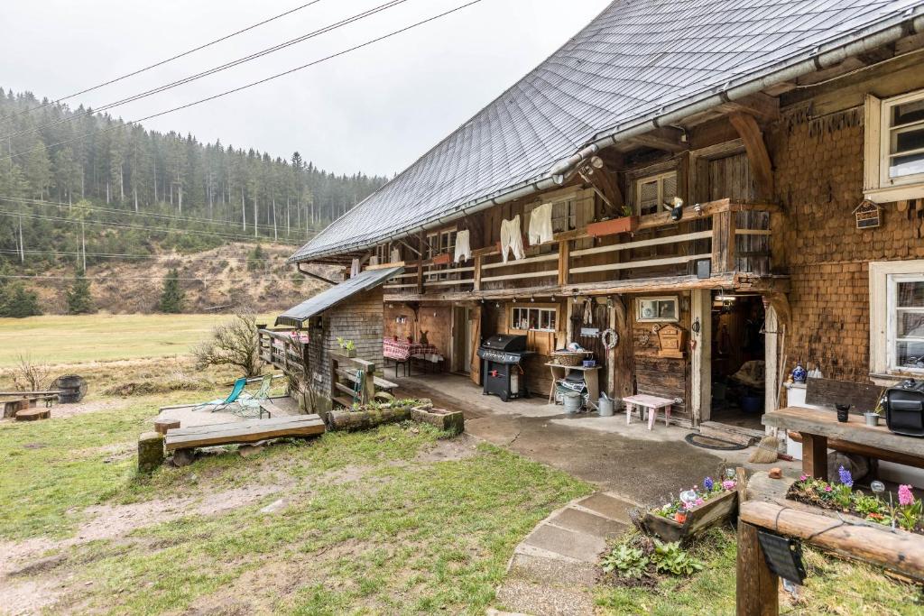
<svg viewBox="0 0 924 616"><path fill-rule="evenodd" d="M711 420L762 429L764 308L758 295L712 295Z"/></svg>

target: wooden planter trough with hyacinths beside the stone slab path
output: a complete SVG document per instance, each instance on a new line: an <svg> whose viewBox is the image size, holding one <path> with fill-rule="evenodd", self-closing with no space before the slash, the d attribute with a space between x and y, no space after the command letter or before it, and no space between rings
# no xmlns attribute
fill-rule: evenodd
<svg viewBox="0 0 924 616"><path fill-rule="evenodd" d="M706 477L702 487L693 486L675 499L645 513L642 525L663 541L684 541L721 524L737 511L737 481L729 469L723 480Z"/></svg>

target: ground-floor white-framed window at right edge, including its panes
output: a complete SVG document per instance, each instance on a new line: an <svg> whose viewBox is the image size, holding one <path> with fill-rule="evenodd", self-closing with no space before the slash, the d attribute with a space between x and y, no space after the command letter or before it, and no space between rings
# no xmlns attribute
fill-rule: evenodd
<svg viewBox="0 0 924 616"><path fill-rule="evenodd" d="M924 374L924 260L869 263L869 301L873 380Z"/></svg>

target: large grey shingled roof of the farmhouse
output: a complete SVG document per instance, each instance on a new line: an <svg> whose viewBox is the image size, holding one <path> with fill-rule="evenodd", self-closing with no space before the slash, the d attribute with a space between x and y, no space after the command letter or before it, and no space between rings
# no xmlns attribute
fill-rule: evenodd
<svg viewBox="0 0 924 616"><path fill-rule="evenodd" d="M595 139L894 31L918 18L921 6L922 0L616 0L290 260L368 248L441 223L548 178L555 163Z"/></svg>

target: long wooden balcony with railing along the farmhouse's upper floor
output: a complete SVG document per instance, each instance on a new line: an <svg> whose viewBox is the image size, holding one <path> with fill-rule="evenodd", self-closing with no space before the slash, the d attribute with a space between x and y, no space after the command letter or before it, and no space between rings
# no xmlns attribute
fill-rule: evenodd
<svg viewBox="0 0 924 616"><path fill-rule="evenodd" d="M592 237L587 229L556 234L529 247L527 258L501 260L497 246L473 251L473 262L405 264L389 281L389 301L512 296L639 293L682 288L781 289L786 283L772 254L774 224L783 214L772 203L722 199L646 216L632 234ZM524 243L525 245L525 243ZM782 289L781 289L782 290Z"/></svg>

